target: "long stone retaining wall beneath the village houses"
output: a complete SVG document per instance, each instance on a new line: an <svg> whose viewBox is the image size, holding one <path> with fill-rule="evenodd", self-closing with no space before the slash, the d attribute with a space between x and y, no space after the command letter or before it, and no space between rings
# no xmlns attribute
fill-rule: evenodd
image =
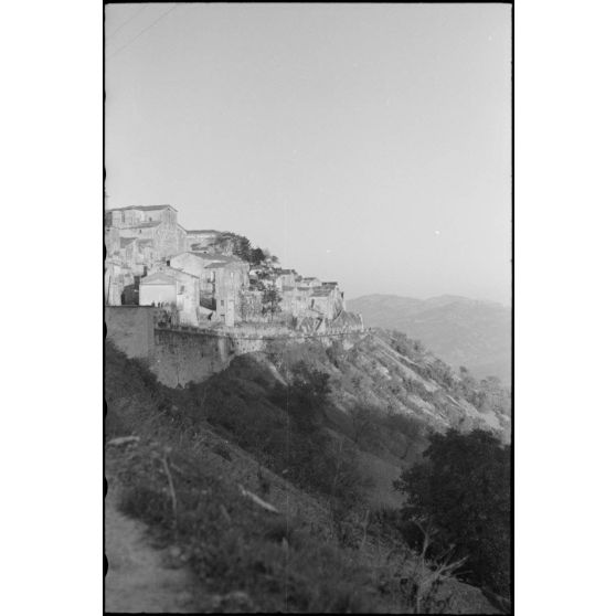
<svg viewBox="0 0 616 616"><path fill-rule="evenodd" d="M129 358L145 359L158 380L170 387L199 383L224 370L234 357L263 351L270 340L304 342L318 338L326 346L357 337L359 329L336 328L323 333L289 331L279 326L220 328L160 327L160 308L107 306L107 337Z"/></svg>

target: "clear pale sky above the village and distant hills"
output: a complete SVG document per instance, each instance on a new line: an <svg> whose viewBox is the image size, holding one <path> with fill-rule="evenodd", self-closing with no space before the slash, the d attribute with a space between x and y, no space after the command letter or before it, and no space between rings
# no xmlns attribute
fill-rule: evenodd
<svg viewBox="0 0 616 616"><path fill-rule="evenodd" d="M108 206L347 298L511 302L508 4L106 6Z"/></svg>

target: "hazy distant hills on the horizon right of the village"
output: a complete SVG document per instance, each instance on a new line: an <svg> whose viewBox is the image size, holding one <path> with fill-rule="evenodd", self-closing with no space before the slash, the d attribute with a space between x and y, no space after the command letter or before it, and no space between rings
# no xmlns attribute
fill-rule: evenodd
<svg viewBox="0 0 616 616"><path fill-rule="evenodd" d="M414 299L368 295L347 301L369 327L399 330L421 340L456 370L511 381L511 310L492 301L458 296Z"/></svg>

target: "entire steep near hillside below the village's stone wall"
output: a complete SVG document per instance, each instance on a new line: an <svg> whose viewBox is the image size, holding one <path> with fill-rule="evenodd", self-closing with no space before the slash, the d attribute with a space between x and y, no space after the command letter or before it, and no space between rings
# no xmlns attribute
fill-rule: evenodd
<svg viewBox="0 0 616 616"><path fill-rule="evenodd" d="M392 481L433 431L507 439L501 394L386 331L272 343L183 389L107 344L106 475L200 610L496 613L406 546Z"/></svg>

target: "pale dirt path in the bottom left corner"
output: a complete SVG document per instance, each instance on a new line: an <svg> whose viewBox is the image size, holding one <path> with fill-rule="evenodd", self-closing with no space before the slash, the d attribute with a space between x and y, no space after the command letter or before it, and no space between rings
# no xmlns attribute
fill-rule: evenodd
<svg viewBox="0 0 616 616"><path fill-rule="evenodd" d="M166 566L146 525L120 513L116 495L105 499L106 612L191 612L191 581L184 569Z"/></svg>

